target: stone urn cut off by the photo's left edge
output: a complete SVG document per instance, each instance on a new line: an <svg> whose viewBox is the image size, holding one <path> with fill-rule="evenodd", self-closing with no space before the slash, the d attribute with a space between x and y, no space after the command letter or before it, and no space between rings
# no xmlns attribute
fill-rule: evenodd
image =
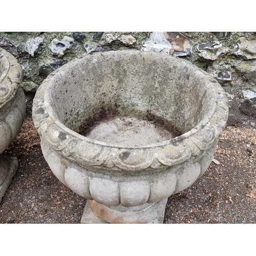
<svg viewBox="0 0 256 256"><path fill-rule="evenodd" d="M2 153L18 135L25 118L21 81L22 67L12 54L0 48L0 202L18 167L16 157L4 157Z"/></svg>

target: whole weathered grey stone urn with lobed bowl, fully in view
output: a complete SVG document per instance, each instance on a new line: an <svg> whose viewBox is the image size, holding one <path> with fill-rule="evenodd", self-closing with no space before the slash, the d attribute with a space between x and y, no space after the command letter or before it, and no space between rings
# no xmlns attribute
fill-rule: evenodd
<svg viewBox="0 0 256 256"><path fill-rule="evenodd" d="M32 115L52 172L88 199L81 223L163 223L167 198L212 161L228 104L190 62L125 50L51 73Z"/></svg>

